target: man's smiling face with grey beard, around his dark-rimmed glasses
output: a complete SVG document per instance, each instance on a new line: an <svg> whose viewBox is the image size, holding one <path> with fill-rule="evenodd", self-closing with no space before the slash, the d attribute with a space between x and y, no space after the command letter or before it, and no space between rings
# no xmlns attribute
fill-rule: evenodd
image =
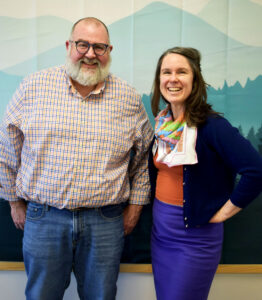
<svg viewBox="0 0 262 300"><path fill-rule="evenodd" d="M110 68L110 45L104 55L96 55L92 47L85 54L76 49L76 41L109 44L106 29L102 24L82 21L78 23L72 33L71 40L66 42L67 58L66 71L68 75L84 86L96 85L103 81Z"/></svg>

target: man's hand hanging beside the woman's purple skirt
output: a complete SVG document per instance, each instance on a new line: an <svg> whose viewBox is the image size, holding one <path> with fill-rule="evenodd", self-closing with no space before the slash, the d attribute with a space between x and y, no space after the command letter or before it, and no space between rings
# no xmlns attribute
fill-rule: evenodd
<svg viewBox="0 0 262 300"><path fill-rule="evenodd" d="M129 204L124 210L125 235L130 234L136 226L140 217L143 205Z"/></svg>

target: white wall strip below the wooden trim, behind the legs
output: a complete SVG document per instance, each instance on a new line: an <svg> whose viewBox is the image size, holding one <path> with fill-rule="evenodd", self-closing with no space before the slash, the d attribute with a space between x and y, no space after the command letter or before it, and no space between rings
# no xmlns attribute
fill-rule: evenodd
<svg viewBox="0 0 262 300"><path fill-rule="evenodd" d="M0 271L0 299L25 300L25 283L24 271ZM261 300L261 287L262 274L217 274L208 300ZM78 299L72 276L64 300ZM120 273L116 299L156 300L152 274Z"/></svg>

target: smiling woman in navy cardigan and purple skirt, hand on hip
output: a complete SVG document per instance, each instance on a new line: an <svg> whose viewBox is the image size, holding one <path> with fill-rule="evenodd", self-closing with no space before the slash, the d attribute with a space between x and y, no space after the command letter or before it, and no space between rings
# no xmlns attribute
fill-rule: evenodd
<svg viewBox="0 0 262 300"><path fill-rule="evenodd" d="M158 114L160 97L167 107ZM222 222L261 192L262 158L207 103L196 49L175 47L160 57L152 111L158 114L149 163L157 299L204 300L220 260Z"/></svg>

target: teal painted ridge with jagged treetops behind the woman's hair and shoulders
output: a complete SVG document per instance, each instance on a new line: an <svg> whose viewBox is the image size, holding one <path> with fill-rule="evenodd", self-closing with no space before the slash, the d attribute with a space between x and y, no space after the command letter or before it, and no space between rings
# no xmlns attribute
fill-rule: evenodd
<svg viewBox="0 0 262 300"><path fill-rule="evenodd" d="M243 136L247 137L257 150L262 147L262 76L255 80L248 79L245 86L236 82L232 86L224 83L222 88L208 88L208 102L215 111L224 114L233 126L238 127ZM144 106L151 124L154 116L150 108L150 95L143 94ZM261 148L262 154L262 148Z"/></svg>

